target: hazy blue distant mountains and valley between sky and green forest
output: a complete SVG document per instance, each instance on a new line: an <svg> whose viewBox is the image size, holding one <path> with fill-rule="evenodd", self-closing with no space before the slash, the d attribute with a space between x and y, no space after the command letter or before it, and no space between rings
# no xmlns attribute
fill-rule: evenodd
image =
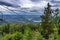
<svg viewBox="0 0 60 40"><path fill-rule="evenodd" d="M2 15L0 15L2 18ZM0 23L39 23L41 21L40 15L3 15L3 21Z"/></svg>

